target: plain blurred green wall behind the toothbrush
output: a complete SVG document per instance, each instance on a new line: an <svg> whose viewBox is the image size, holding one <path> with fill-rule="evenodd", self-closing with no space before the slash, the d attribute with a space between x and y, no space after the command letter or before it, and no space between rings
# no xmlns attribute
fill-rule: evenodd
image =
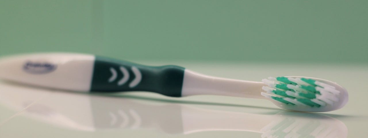
<svg viewBox="0 0 368 138"><path fill-rule="evenodd" d="M368 63L367 0L1 0L0 56Z"/></svg>

